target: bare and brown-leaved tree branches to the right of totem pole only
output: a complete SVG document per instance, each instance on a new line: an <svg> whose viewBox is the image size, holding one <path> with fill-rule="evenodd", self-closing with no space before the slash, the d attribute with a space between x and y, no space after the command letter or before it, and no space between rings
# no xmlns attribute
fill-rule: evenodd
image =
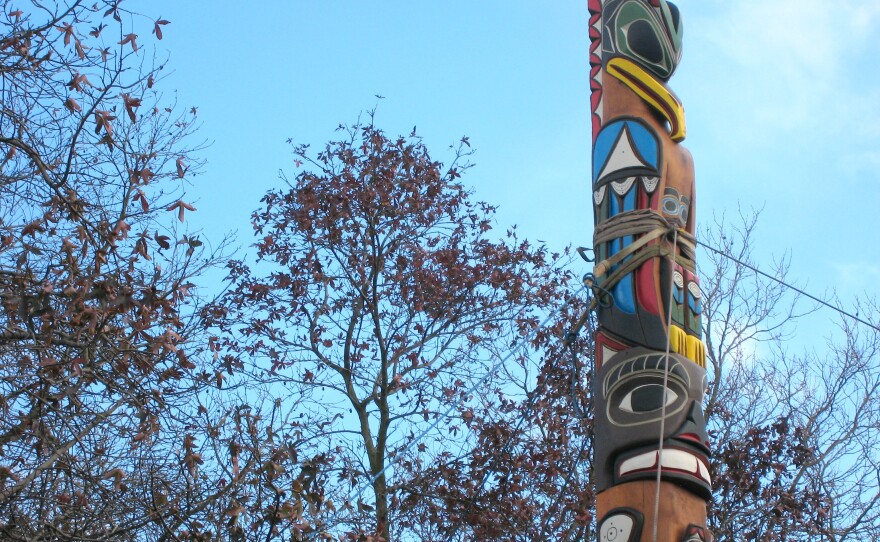
<svg viewBox="0 0 880 542"><path fill-rule="evenodd" d="M718 251L701 260L716 539L876 539L880 334L840 316L825 351L793 353L803 350L794 330L808 313L835 316L783 285L785 261L770 273L778 281L755 272L756 224L757 215L743 215L703 237ZM858 309L880 321L876 302Z"/></svg>

